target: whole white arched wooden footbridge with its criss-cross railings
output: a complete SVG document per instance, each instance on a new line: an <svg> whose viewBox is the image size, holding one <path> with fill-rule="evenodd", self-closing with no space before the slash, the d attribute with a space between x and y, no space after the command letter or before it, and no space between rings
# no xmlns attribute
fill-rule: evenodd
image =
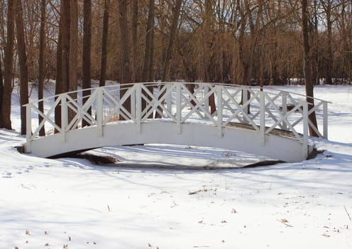
<svg viewBox="0 0 352 249"><path fill-rule="evenodd" d="M190 84L194 84L194 92L189 90ZM25 151L53 157L123 144L185 144L302 161L313 149L309 125L327 138L328 102L316 99L309 110L304 95L282 90L210 83L136 83L89 91L85 101L82 90L39 100L46 107L44 113L38 110L38 102L26 105ZM213 113L211 95L216 105ZM55 124L55 108L60 108L61 124ZM317 113L319 129L308 119L312 111ZM153 117L156 113L160 118ZM38 115L43 117L39 124ZM83 120L87 126L82 127ZM46 134L40 137L44 125Z"/></svg>

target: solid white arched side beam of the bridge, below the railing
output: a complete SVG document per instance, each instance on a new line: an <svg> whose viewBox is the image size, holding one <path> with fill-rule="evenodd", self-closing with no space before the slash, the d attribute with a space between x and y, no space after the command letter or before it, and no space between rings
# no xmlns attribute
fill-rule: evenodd
<svg viewBox="0 0 352 249"><path fill-rule="evenodd" d="M62 134L53 134L31 142L26 148L40 157L53 157L67 152L123 144L187 144L216 147L263 155L281 161L295 162L307 159L312 147L304 148L297 139L277 134L266 134L265 143L260 132L243 127L226 126L219 129L214 125L198 122L182 124L177 130L173 122L143 122L141 129L131 122L111 123L104 126L102 136L97 127L84 127Z"/></svg>

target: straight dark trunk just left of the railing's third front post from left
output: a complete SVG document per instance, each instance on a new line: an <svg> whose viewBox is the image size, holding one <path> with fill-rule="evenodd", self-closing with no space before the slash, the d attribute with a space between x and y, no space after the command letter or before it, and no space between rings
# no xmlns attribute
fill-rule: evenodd
<svg viewBox="0 0 352 249"><path fill-rule="evenodd" d="M83 89L91 88L91 44L92 44L92 0L84 0L83 5L83 58L82 58L82 80ZM83 91L83 103L91 95L90 90ZM88 110L89 115L92 109ZM82 120L82 127L89 125Z"/></svg>

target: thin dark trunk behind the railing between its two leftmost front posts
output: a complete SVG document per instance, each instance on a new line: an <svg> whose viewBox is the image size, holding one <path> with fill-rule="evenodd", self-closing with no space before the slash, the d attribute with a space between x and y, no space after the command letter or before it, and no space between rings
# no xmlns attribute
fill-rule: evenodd
<svg viewBox="0 0 352 249"><path fill-rule="evenodd" d="M18 1L18 0L17 0ZM21 1L21 0L20 0ZM40 3L40 38L39 38L39 86L38 100L43 99L44 75L45 75L45 22L46 22L46 0L41 0ZM44 112L44 102L38 103L40 112ZM38 115L39 123L43 121L43 117ZM39 136L45 136L45 127L39 131Z"/></svg>

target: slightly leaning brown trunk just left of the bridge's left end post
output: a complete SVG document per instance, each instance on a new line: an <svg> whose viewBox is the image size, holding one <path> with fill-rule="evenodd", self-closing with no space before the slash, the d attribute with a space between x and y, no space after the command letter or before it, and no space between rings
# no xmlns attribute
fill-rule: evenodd
<svg viewBox="0 0 352 249"><path fill-rule="evenodd" d="M17 49L20 65L20 103L21 103L21 134L26 134L26 107L28 104L28 68L26 55L26 42L23 30L23 14L21 0L15 0L16 8L16 35Z"/></svg>

